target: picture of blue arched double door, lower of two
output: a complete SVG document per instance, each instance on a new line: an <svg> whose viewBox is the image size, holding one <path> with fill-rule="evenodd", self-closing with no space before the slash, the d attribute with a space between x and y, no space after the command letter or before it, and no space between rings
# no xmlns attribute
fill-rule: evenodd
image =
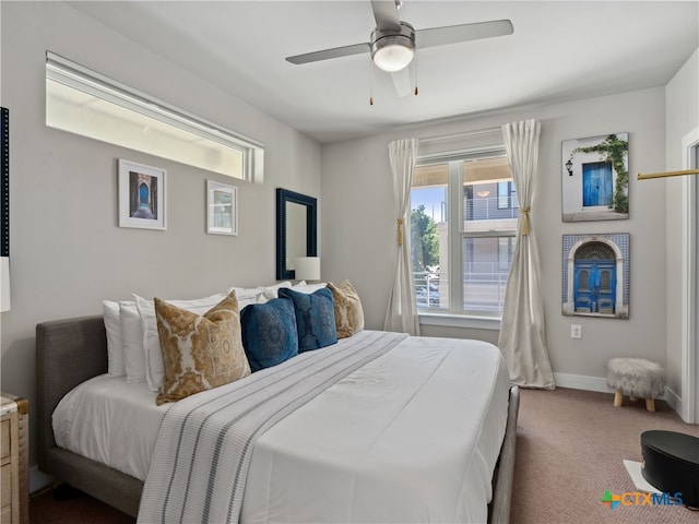
<svg viewBox="0 0 699 524"><path fill-rule="evenodd" d="M564 235L562 313L629 318L629 234Z"/></svg>

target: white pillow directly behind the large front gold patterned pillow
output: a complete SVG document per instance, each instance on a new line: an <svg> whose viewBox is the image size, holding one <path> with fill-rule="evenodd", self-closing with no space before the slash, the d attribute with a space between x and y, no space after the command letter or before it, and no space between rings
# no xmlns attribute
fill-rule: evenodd
<svg viewBox="0 0 699 524"><path fill-rule="evenodd" d="M145 381L153 392L161 391L165 368L163 367L163 354L161 340L157 334L157 320L155 318L155 302L133 295L141 320L143 355L145 360ZM224 294L212 295L192 300L167 300L173 306L186 309L197 314L204 314L220 301L226 298Z"/></svg>

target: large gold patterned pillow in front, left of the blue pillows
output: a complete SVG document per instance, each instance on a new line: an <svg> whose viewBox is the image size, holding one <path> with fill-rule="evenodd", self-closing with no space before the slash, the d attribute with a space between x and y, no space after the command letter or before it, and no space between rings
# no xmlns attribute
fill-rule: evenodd
<svg viewBox="0 0 699 524"><path fill-rule="evenodd" d="M235 291L203 315L155 298L155 314L165 369L158 406L250 374Z"/></svg>

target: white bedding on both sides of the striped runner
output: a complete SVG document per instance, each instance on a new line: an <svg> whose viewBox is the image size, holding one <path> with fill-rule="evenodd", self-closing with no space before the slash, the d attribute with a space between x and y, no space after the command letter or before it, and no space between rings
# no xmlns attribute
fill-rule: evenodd
<svg viewBox="0 0 699 524"><path fill-rule="evenodd" d="M93 379L67 396L55 414L57 442L144 479L168 406L118 380ZM240 521L485 522L508 391L495 346L407 338L259 439Z"/></svg>

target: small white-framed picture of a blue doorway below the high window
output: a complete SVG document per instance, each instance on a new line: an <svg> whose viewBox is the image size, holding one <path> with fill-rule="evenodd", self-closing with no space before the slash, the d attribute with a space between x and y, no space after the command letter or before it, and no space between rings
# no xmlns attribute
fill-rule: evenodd
<svg viewBox="0 0 699 524"><path fill-rule="evenodd" d="M119 227L165 230L165 169L119 158Z"/></svg>

